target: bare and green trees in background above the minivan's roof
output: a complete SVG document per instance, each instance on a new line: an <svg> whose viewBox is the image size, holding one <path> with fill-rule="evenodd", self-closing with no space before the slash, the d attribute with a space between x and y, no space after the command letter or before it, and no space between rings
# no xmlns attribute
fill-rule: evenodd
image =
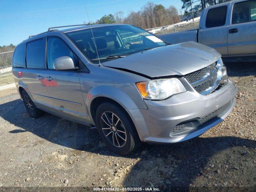
<svg viewBox="0 0 256 192"><path fill-rule="evenodd" d="M183 15L191 17L193 12L194 16L196 16L208 6L227 1L230 0L181 0L183 3L182 10L184 10ZM88 24L122 23L148 29L178 23L181 21L180 16L182 15L178 14L178 10L174 6L166 8L162 4L148 2L146 5L142 6L138 12L130 11L126 17L124 17L123 11L118 11L115 14L104 15L96 22Z"/></svg>

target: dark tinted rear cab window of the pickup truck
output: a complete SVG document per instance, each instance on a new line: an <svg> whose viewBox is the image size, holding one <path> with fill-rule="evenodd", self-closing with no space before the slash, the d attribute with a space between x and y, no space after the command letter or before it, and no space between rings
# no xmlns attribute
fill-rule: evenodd
<svg viewBox="0 0 256 192"><path fill-rule="evenodd" d="M223 26L226 23L228 6L216 7L208 10L206 16L206 28Z"/></svg>

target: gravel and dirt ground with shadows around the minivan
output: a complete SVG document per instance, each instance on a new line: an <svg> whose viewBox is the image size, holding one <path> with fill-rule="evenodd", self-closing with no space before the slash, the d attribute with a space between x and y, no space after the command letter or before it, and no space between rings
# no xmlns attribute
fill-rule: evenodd
<svg viewBox="0 0 256 192"><path fill-rule="evenodd" d="M110 152L97 130L50 114L30 118L17 94L0 98L0 191L14 186L255 191L256 64L227 67L239 88L228 118L198 138L143 144L130 156Z"/></svg>

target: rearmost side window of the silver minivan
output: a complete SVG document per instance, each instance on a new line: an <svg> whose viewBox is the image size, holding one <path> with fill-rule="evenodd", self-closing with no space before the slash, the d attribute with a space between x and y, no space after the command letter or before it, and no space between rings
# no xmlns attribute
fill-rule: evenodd
<svg viewBox="0 0 256 192"><path fill-rule="evenodd" d="M12 67L25 67L25 48L26 44L16 47L12 60Z"/></svg>

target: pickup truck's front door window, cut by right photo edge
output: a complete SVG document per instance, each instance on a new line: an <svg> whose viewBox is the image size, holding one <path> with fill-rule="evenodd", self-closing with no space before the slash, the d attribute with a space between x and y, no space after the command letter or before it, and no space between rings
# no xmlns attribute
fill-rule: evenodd
<svg viewBox="0 0 256 192"><path fill-rule="evenodd" d="M232 24L256 20L256 0L234 4L232 11Z"/></svg>

